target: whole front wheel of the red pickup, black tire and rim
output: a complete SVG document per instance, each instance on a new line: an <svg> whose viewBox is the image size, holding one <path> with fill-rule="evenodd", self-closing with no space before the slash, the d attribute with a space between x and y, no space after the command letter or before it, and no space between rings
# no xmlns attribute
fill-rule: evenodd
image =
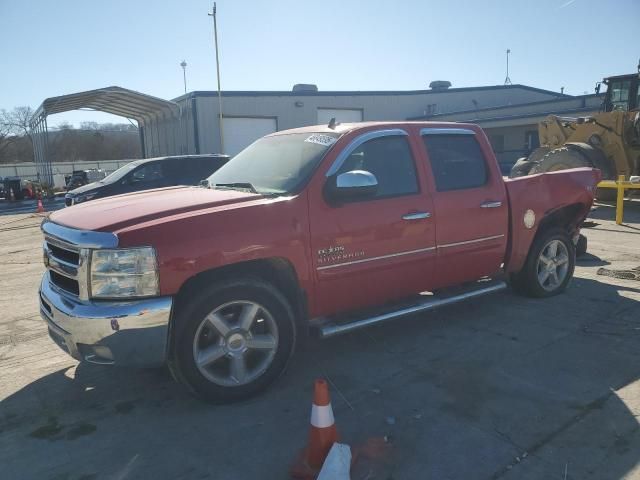
<svg viewBox="0 0 640 480"><path fill-rule="evenodd" d="M237 278L185 303L176 312L171 367L194 394L211 403L244 400L285 371L296 343L295 321L289 302L271 284Z"/></svg>

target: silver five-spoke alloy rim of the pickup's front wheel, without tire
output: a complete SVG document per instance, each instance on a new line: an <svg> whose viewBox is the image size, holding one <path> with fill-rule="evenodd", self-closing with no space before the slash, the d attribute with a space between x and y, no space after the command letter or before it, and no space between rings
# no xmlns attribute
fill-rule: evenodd
<svg viewBox="0 0 640 480"><path fill-rule="evenodd" d="M220 386L246 385L260 377L278 349L278 327L269 311L250 301L225 303L200 323L193 358L202 375Z"/></svg>

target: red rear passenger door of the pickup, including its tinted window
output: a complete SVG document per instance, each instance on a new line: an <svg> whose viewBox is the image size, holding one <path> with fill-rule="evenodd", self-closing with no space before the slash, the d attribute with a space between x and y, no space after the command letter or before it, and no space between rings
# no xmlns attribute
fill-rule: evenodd
<svg viewBox="0 0 640 480"><path fill-rule="evenodd" d="M508 231L507 194L486 142L467 128L421 130L435 190L440 287L498 272Z"/></svg>

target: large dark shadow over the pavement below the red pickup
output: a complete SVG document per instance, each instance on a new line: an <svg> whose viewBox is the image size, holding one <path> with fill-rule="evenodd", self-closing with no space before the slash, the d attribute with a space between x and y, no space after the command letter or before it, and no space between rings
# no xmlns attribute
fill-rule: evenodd
<svg viewBox="0 0 640 480"><path fill-rule="evenodd" d="M640 461L638 298L640 284L576 278L551 299L508 292L309 340L268 392L226 406L166 370L69 362L0 402L0 463L21 479L288 478L325 376L343 440L392 439L394 478L563 478L568 464L567 479L621 479Z"/></svg>

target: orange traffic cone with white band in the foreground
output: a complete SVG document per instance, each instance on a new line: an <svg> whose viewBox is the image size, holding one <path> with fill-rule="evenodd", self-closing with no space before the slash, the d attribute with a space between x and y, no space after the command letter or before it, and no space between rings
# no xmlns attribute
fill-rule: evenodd
<svg viewBox="0 0 640 480"><path fill-rule="evenodd" d="M318 379L315 381L313 405L311 406L309 445L291 467L291 475L300 479L315 478L320 472L329 450L337 441L338 430L333 418L329 387L326 380Z"/></svg>

